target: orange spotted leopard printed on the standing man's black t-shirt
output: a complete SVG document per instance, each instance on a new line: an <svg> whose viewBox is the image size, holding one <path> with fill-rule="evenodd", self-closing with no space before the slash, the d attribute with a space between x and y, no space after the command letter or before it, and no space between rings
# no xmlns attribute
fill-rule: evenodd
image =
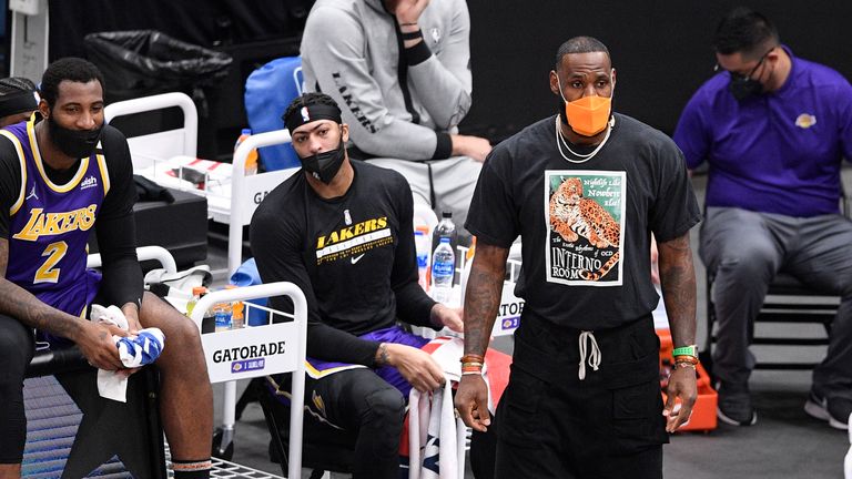
<svg viewBox="0 0 852 479"><path fill-rule="evenodd" d="M620 225L595 200L582 196L582 182L568 177L550 196L550 227L567 243L585 237L597 248L618 247ZM581 271L586 281L598 281L618 263L616 252L597 272Z"/></svg>

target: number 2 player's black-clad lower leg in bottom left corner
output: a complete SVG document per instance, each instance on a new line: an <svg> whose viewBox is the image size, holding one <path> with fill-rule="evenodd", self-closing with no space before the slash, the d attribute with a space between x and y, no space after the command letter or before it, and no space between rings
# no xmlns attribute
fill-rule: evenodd
<svg viewBox="0 0 852 479"><path fill-rule="evenodd" d="M19 463L23 459L23 376L34 350L32 329L0 315L0 463Z"/></svg>

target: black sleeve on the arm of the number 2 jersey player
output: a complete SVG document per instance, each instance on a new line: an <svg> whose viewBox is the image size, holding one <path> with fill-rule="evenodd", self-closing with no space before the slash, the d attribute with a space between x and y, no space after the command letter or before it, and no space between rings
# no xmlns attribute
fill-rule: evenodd
<svg viewBox="0 0 852 479"><path fill-rule="evenodd" d="M118 130L103 129L102 145L109 170L110 190L95 222L98 246L103 259L101 292L116 306L140 305L142 269L136 259L136 227L133 204L136 188L128 142Z"/></svg>

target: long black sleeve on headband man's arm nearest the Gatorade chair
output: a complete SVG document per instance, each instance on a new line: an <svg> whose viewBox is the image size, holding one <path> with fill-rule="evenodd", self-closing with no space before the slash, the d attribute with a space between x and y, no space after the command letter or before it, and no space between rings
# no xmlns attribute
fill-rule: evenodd
<svg viewBox="0 0 852 479"><path fill-rule="evenodd" d="M335 329L320 317L316 296L300 252L302 238L297 228L288 227L275 201L267 197L252 217L250 238L252 255L264 284L291 282L298 286L307 299L307 355L323 360L374 366L379 343L361 339ZM292 210L293 205L288 205ZM281 312L293 312L288 297L270 298L270 306Z"/></svg>

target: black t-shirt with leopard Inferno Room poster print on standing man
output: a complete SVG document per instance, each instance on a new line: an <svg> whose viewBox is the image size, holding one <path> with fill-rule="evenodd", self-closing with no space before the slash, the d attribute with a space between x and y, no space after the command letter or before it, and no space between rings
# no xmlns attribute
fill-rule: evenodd
<svg viewBox="0 0 852 479"><path fill-rule="evenodd" d="M525 315L582 329L615 327L659 300L650 233L659 242L681 236L700 211L683 155L661 132L616 114L597 154L570 162L558 149L556 121L539 121L494 149L466 227L501 247L521 236L516 293L526 299Z"/></svg>

